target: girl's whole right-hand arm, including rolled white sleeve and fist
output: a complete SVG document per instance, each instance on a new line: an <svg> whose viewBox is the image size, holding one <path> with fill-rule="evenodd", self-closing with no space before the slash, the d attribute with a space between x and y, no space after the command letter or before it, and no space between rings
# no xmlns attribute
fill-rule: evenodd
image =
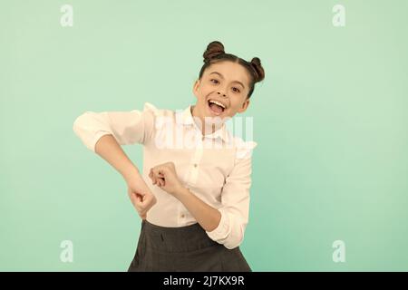
<svg viewBox="0 0 408 290"><path fill-rule="evenodd" d="M153 184L158 184L160 189L178 198L212 240L232 249L244 239L248 224L251 158L245 155L243 158L238 154L236 164L222 188L222 206L218 209L210 207L182 185L173 162L155 166L149 177Z"/></svg>

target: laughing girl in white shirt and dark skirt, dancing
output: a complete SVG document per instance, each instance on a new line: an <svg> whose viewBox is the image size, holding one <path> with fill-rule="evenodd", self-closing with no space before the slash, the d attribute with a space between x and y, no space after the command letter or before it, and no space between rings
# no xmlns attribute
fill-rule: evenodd
<svg viewBox="0 0 408 290"><path fill-rule="evenodd" d="M184 111L86 111L73 123L84 145L117 169L141 217L128 271L251 271L239 250L248 224L251 155L257 146L228 131L248 109L260 60L209 43ZM143 145L143 170L120 145Z"/></svg>

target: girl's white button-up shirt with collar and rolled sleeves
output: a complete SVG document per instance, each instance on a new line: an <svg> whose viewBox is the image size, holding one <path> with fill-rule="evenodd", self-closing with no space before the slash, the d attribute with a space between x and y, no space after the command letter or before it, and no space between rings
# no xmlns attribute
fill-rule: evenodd
<svg viewBox="0 0 408 290"><path fill-rule="evenodd" d="M181 183L221 213L219 226L207 235L229 249L238 247L248 224L251 156L257 143L233 137L225 123L203 135L191 109L160 110L146 102L143 111L85 111L73 131L93 152L106 134L121 145L143 145L141 176L157 198L146 219L161 227L197 223L179 199L152 185L148 176L152 167L174 162Z"/></svg>

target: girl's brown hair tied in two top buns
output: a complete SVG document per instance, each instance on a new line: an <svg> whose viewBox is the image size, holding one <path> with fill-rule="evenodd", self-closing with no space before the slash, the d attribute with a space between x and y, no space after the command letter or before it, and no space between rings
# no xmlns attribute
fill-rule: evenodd
<svg viewBox="0 0 408 290"><path fill-rule="evenodd" d="M219 63L222 61L229 61L233 63L239 63L244 66L249 75L251 76L251 81L249 83L249 92L248 92L248 99L250 98L252 92L254 92L254 87L256 82L261 82L265 78L264 69L260 63L260 59L257 57L252 58L252 60L248 63L246 60L242 58L230 54L225 53L224 45L218 41L214 41L207 45L206 51L202 54L204 57L204 64L199 71L199 79L201 79L202 74L204 71L211 65L212 63Z"/></svg>

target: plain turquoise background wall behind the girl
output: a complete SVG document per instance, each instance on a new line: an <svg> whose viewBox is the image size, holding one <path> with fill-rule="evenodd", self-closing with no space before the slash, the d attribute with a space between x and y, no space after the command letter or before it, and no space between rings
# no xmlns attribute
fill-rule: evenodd
<svg viewBox="0 0 408 290"><path fill-rule="evenodd" d="M407 12L404 0L2 1L0 270L127 269L140 218L73 121L193 104L219 40L267 75L244 114L258 143L241 245L253 270L407 271ZM140 146L123 148L141 165Z"/></svg>

